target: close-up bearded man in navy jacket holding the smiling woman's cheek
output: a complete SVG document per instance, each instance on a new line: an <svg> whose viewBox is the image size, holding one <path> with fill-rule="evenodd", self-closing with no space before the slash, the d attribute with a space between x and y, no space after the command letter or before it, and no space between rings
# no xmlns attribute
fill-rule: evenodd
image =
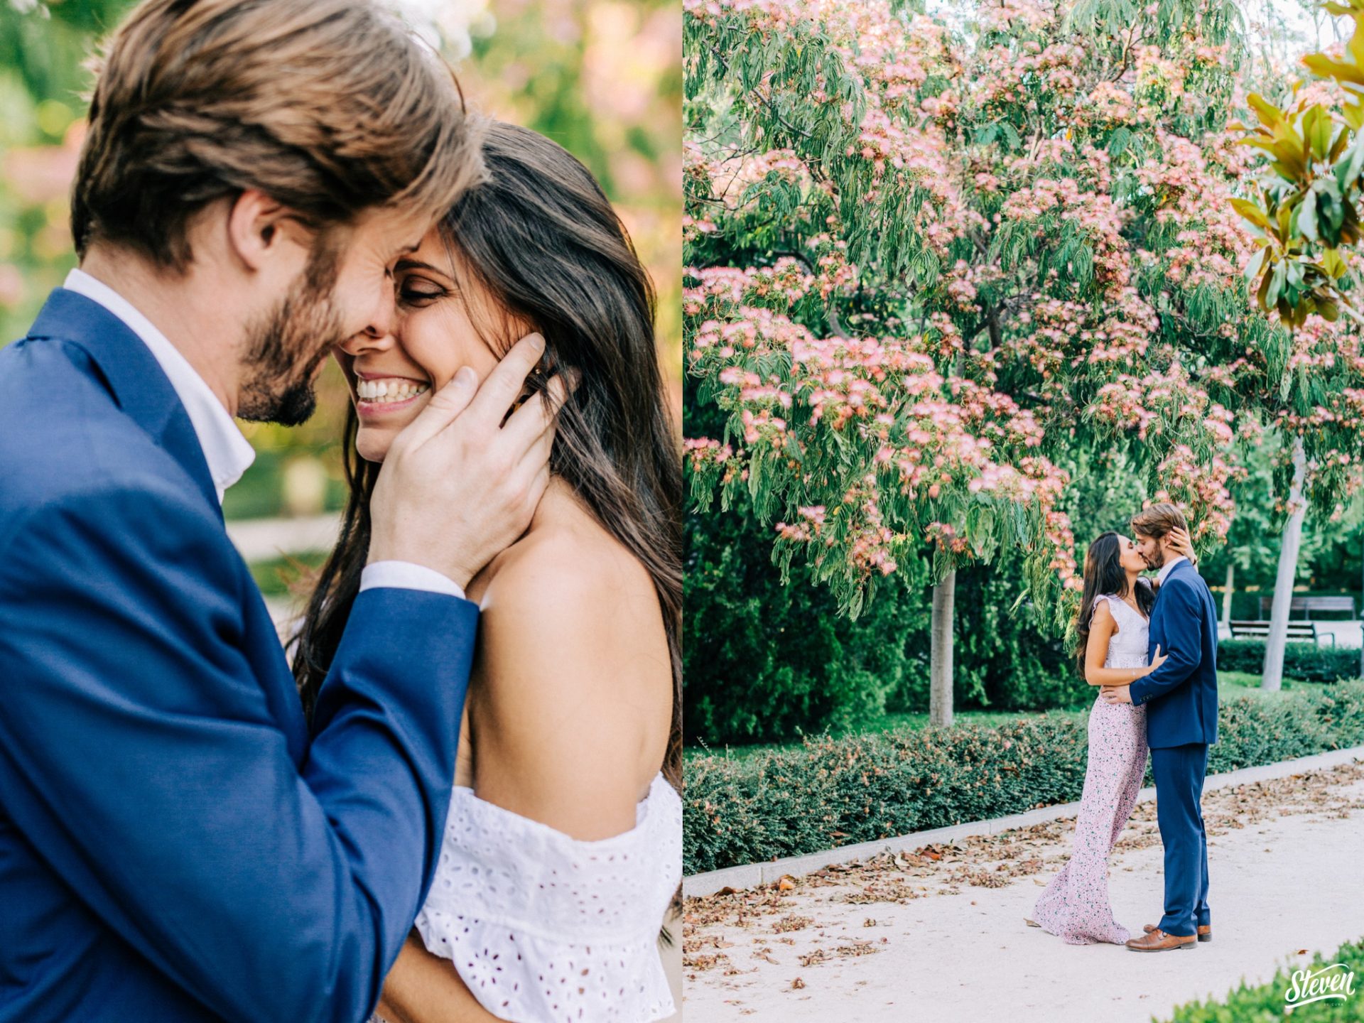
<svg viewBox="0 0 1364 1023"><path fill-rule="evenodd" d="M331 348L393 329L477 151L366 0L147 0L109 46L80 269L0 349L0 1023L376 1004L449 807L462 587L529 522L563 389L503 423L532 337L420 398L311 722L220 501L233 416L301 421Z"/></svg>

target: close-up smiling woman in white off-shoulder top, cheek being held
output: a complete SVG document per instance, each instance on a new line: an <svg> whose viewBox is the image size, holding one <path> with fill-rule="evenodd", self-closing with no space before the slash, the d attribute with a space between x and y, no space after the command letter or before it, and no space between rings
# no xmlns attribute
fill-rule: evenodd
<svg viewBox="0 0 1364 1023"><path fill-rule="evenodd" d="M379 1012L647 1023L675 1009L656 940L682 855L681 464L653 288L600 187L561 146L494 123L483 157L488 180L396 265L393 330L337 352L355 400L351 501L295 671L311 708L400 432L457 374L486 381L539 333L527 393L548 386L548 367L576 387L529 529L466 588L483 614L454 801ZM495 885L471 880L490 873Z"/></svg>

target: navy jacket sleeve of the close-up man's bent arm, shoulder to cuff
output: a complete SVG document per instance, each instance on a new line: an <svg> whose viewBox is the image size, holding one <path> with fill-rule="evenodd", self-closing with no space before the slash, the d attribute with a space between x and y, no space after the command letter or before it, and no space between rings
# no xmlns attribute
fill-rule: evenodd
<svg viewBox="0 0 1364 1023"><path fill-rule="evenodd" d="M101 490L0 537L0 805L214 1013L356 1023L436 861L477 608L361 593L300 768L270 707L282 651L258 678L211 509Z"/></svg>

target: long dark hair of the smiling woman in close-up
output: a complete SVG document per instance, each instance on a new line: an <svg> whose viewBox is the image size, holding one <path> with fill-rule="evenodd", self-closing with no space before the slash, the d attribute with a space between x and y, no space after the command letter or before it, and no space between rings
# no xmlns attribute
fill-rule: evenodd
<svg viewBox="0 0 1364 1023"><path fill-rule="evenodd" d="M581 382L559 413L550 468L653 580L672 657L672 726L663 773L682 784L682 461L653 337L655 292L629 235L591 172L527 128L494 121L488 180L441 222L456 273L472 274L502 311L544 336L546 364ZM510 344L510 342L506 342ZM547 378L536 372L535 389ZM370 495L379 465L344 441L351 490L341 536L296 637L293 675L311 716L360 588Z"/></svg>

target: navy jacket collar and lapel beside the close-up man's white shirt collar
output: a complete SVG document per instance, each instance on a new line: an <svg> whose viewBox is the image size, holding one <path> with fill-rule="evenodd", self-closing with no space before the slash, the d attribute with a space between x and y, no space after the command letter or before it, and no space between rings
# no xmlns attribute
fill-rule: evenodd
<svg viewBox="0 0 1364 1023"><path fill-rule="evenodd" d="M113 393L115 401L175 458L222 518L190 415L151 349L109 310L83 295L57 288L34 321L29 337L52 337L83 348Z"/></svg>

